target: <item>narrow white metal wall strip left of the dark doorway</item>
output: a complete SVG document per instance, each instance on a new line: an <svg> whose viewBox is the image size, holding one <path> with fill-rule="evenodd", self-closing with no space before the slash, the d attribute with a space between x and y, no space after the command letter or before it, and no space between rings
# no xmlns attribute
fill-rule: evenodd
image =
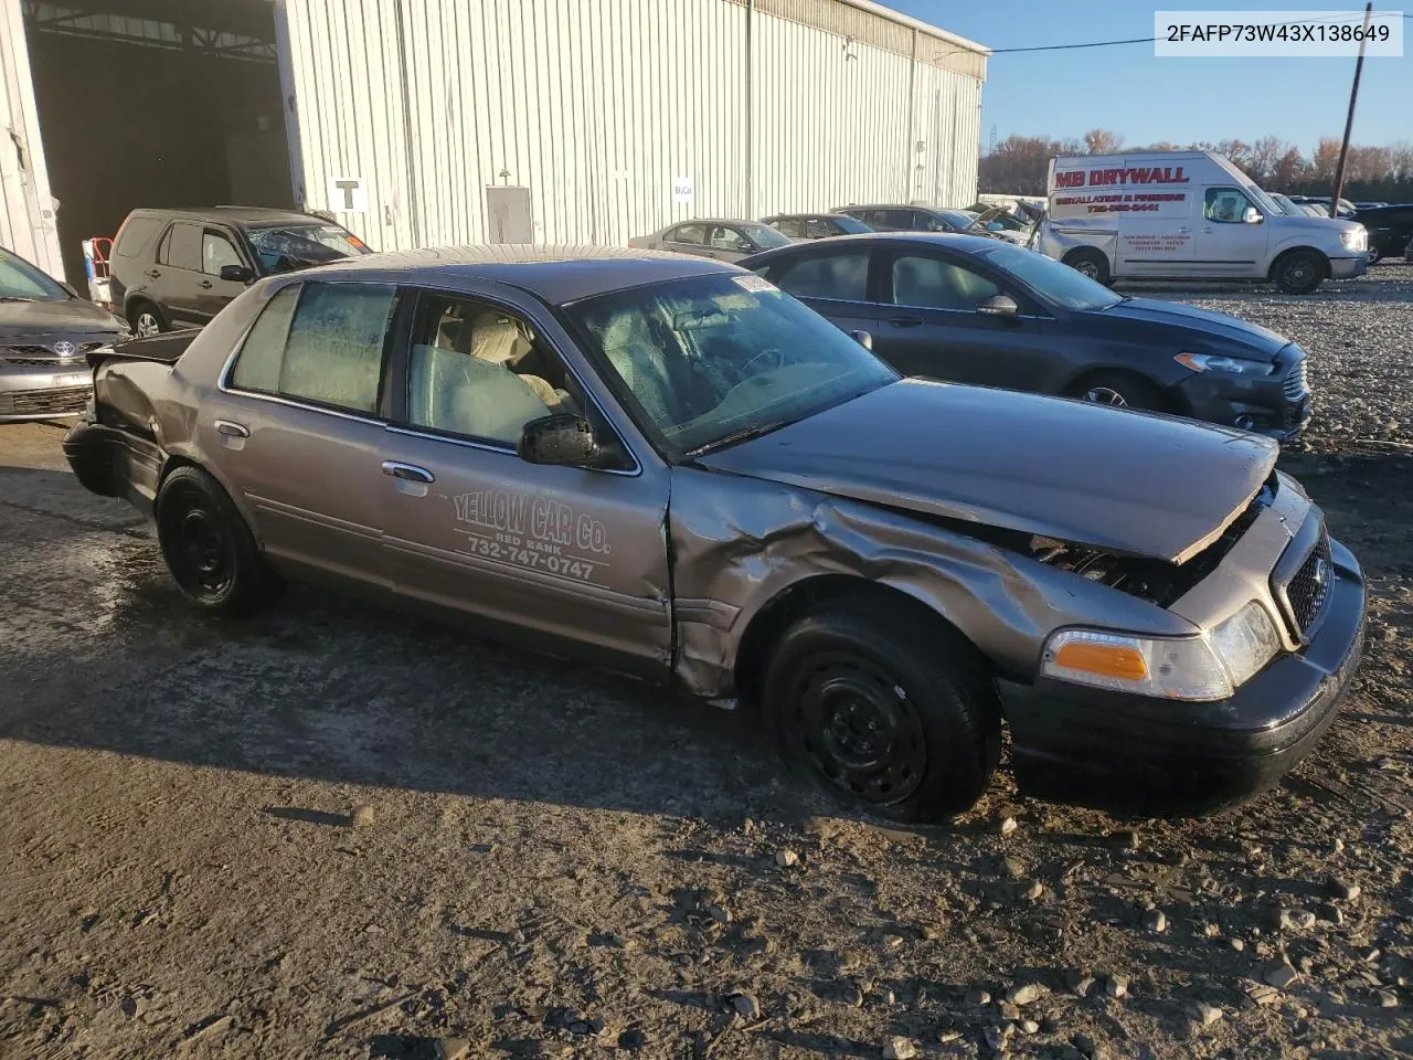
<svg viewBox="0 0 1413 1060"><path fill-rule="evenodd" d="M0 246L64 276L20 0L0 0Z"/></svg>

